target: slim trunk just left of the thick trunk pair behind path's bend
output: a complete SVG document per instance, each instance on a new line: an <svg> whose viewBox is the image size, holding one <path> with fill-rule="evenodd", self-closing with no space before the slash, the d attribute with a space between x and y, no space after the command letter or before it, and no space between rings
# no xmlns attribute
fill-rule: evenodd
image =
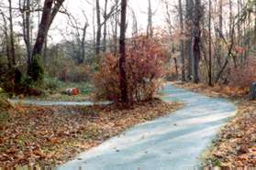
<svg viewBox="0 0 256 170"><path fill-rule="evenodd" d="M183 5L182 0L179 0L179 18L180 18L180 26L181 33L184 35L184 16L183 16ZM182 60L182 80L185 81L185 63L184 63L184 37L180 40L180 51L181 51L181 60Z"/></svg>

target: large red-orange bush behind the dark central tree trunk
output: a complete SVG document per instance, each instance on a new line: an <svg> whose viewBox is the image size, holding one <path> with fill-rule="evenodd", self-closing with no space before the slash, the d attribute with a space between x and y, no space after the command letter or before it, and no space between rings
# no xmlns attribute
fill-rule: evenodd
<svg viewBox="0 0 256 170"><path fill-rule="evenodd" d="M129 101L145 101L153 98L163 76L166 53L158 39L133 37L127 46L126 72ZM97 99L119 101L118 57L106 55L95 74Z"/></svg>

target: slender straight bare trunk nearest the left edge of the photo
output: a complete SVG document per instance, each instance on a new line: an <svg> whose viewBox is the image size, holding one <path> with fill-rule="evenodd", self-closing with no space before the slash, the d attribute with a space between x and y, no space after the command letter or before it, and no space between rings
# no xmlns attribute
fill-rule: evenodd
<svg viewBox="0 0 256 170"><path fill-rule="evenodd" d="M10 46L11 46L10 47L10 56L12 58L12 66L16 66L12 1L8 0L8 3L9 3L9 27L10 27Z"/></svg>

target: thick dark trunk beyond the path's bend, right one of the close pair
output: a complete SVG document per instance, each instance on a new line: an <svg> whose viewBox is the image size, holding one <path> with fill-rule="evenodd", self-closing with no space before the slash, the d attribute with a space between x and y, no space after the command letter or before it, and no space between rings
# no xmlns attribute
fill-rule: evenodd
<svg viewBox="0 0 256 170"><path fill-rule="evenodd" d="M195 83L198 83L199 80L199 61L201 58L201 18L202 18L202 5L201 0L195 0L195 15L194 15L194 62L193 62L193 79Z"/></svg>

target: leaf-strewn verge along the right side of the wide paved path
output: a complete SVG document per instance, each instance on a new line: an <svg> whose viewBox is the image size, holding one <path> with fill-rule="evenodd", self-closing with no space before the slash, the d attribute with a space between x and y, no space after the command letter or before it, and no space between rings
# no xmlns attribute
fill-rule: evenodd
<svg viewBox="0 0 256 170"><path fill-rule="evenodd" d="M213 147L204 155L206 164L256 166L256 101L247 99L247 90L232 89L228 86L208 87L194 83L172 84L206 96L224 97L238 106L237 116L222 128Z"/></svg>

